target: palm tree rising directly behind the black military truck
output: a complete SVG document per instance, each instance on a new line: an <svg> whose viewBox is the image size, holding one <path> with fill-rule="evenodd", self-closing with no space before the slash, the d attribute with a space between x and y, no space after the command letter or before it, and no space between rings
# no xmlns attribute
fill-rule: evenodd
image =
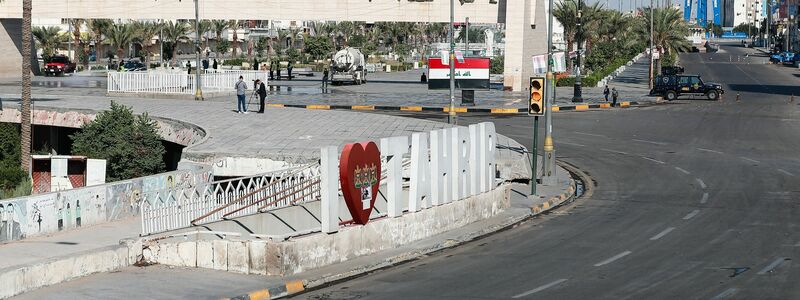
<svg viewBox="0 0 800 300"><path fill-rule="evenodd" d="M650 9L642 9L643 20L650 23ZM661 55L672 55L691 47L686 36L689 35L689 24L683 20L681 12L673 8L656 8L653 10L653 46ZM636 33L643 41L650 39L649 26L635 26ZM656 60L656 74L661 73L661 59Z"/></svg>

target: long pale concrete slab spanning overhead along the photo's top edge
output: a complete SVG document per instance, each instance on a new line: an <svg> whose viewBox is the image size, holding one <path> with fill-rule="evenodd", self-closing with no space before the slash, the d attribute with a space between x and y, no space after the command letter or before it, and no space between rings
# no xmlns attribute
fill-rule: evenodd
<svg viewBox="0 0 800 300"><path fill-rule="evenodd" d="M449 22L450 1L407 0L200 0L203 19ZM496 23L498 4L459 5L456 19ZM36 18L194 19L194 1L33 0ZM0 18L21 18L22 0L0 4Z"/></svg>

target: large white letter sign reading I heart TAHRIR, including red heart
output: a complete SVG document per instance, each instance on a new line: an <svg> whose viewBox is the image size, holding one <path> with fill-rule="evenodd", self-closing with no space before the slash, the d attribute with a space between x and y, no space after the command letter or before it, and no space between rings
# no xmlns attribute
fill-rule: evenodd
<svg viewBox="0 0 800 300"><path fill-rule="evenodd" d="M493 123L473 124L335 146L321 151L322 231L339 230L339 185L353 223L367 224L386 169L387 216L402 216L494 188L497 134ZM403 157L409 157L408 193ZM405 196L405 197L404 197Z"/></svg>

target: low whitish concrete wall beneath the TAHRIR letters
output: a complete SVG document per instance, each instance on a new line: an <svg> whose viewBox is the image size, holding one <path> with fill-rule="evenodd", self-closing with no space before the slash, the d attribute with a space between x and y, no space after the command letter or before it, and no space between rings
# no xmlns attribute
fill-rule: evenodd
<svg viewBox="0 0 800 300"><path fill-rule="evenodd" d="M283 242L263 240L151 241L146 262L249 274L291 275L392 249L497 215L509 207L509 188L450 202L398 218L348 226Z"/></svg>

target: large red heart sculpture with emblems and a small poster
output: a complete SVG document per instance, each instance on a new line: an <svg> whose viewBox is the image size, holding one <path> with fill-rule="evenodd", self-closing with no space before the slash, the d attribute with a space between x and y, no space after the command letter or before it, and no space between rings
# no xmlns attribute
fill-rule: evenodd
<svg viewBox="0 0 800 300"><path fill-rule="evenodd" d="M347 144L339 159L339 181L356 224L367 224L381 185L381 151L375 142Z"/></svg>

